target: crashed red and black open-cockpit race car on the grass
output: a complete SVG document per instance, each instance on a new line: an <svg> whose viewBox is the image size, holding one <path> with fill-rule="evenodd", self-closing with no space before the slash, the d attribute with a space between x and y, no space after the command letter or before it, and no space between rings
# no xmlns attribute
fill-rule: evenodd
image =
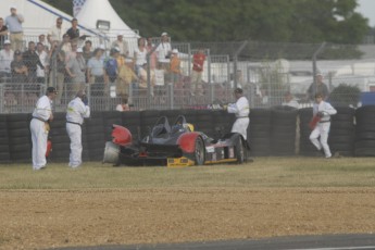
<svg viewBox="0 0 375 250"><path fill-rule="evenodd" d="M243 163L249 146L238 133L213 139L179 115L170 126L166 116L158 118L143 139L134 141L132 133L113 125L112 141L105 143L103 163L114 165L166 165L168 167L214 163Z"/></svg>

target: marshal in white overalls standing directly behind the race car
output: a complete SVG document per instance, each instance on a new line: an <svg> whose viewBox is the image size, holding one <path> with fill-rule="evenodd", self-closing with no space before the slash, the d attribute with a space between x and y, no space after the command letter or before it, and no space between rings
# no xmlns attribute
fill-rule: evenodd
<svg viewBox="0 0 375 250"><path fill-rule="evenodd" d="M241 88L236 88L234 91L236 103L230 103L227 107L228 113L236 114L236 122L233 124L232 133L239 133L243 139L248 139L248 126L250 123L249 113L250 105L248 99L243 96Z"/></svg>

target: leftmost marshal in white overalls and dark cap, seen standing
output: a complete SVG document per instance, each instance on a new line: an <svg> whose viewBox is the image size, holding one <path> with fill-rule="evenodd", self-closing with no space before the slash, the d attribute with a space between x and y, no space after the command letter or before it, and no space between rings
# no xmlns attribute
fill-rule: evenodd
<svg viewBox="0 0 375 250"><path fill-rule="evenodd" d="M49 122L53 120L52 100L58 91L53 87L48 87L46 96L37 101L30 122L33 141L33 170L38 171L46 167L47 139L50 130Z"/></svg>

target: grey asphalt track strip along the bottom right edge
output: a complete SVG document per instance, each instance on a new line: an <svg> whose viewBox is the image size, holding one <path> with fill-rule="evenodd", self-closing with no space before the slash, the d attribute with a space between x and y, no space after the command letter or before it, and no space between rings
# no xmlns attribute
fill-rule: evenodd
<svg viewBox="0 0 375 250"><path fill-rule="evenodd" d="M355 250L375 249L375 235L275 237L173 245L99 246L53 250Z"/></svg>

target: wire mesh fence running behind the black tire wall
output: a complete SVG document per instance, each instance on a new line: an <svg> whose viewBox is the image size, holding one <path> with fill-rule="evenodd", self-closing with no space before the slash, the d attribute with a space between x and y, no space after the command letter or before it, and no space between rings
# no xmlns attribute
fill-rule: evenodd
<svg viewBox="0 0 375 250"><path fill-rule="evenodd" d="M114 110L124 97L133 110L207 109L235 101L236 87L243 88L251 108L285 104L289 93L299 107L310 107L308 91L315 89L317 74L327 86L327 100L340 105L355 107L362 92L375 90L375 61L353 45L172 41L161 67L160 38L145 48L138 38L124 38L127 53L116 53L116 37L90 37L83 52L83 41L68 42L68 50L64 45L40 50L39 37L24 39L21 60L7 48L0 52L3 113L30 112L48 86L57 87L54 105L61 111L83 87L92 111ZM27 52L29 41L37 58ZM137 64L140 57L145 64ZM26 70L20 71L23 65Z"/></svg>

